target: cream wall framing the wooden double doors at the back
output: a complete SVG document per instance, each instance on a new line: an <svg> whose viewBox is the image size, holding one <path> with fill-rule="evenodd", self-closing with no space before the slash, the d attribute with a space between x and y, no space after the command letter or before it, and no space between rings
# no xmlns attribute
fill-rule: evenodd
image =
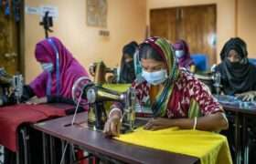
<svg viewBox="0 0 256 164"><path fill-rule="evenodd" d="M242 0L240 0L242 1ZM253 1L253 0L251 0ZM184 5L217 5L217 54L231 36L235 36L235 1L234 0L147 0L147 19L153 8L166 8ZM219 61L219 56L218 56Z"/></svg>

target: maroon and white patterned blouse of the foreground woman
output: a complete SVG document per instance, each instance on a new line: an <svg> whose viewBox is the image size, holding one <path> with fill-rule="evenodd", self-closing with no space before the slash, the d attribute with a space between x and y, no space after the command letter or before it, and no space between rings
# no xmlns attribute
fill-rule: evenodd
<svg viewBox="0 0 256 164"><path fill-rule="evenodd" d="M217 99L211 96L208 87L186 70L180 69L179 77L174 85L166 110L167 118L187 118L192 99L197 102L202 116L223 112ZM150 85L146 81L141 83L134 81L132 86L136 90L140 104L144 106L149 99Z"/></svg>

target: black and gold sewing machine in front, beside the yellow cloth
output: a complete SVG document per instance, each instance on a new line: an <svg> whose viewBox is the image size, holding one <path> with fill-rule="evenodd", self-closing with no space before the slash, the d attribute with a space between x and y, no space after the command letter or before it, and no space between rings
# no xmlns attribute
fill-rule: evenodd
<svg viewBox="0 0 256 164"><path fill-rule="evenodd" d="M81 80L82 78L83 80ZM81 87L79 84L86 80L84 77L81 77L81 79L78 79L80 82L75 83L75 85L72 87L72 92L74 93L72 95L75 102L86 99L87 104L89 104L89 127L102 130L108 118L107 108L105 108L105 105L107 105L107 103L110 101L116 101L122 103L124 107L123 117L121 119L123 125L122 131L132 131L134 128L136 102L134 89L129 87L125 92L120 93L90 82ZM81 97L79 94L75 94L79 90Z"/></svg>

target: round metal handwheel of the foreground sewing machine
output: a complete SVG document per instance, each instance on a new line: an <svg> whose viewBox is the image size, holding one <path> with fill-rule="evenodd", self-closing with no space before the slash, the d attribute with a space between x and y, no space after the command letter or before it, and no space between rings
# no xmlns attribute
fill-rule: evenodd
<svg viewBox="0 0 256 164"><path fill-rule="evenodd" d="M80 77L78 78L73 87L72 87L72 98L74 102L77 104L80 98L80 94L83 94L83 89L87 84L91 83L91 79L89 77ZM82 98L80 99L80 105L84 106L87 104L87 100Z"/></svg>

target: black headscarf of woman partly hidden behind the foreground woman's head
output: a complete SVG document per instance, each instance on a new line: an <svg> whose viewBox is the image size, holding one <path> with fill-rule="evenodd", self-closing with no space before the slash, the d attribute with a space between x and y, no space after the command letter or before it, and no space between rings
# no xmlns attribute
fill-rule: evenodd
<svg viewBox="0 0 256 164"><path fill-rule="evenodd" d="M134 66L134 56L138 49L138 44L136 42L131 42L123 46L123 56L121 59L120 77L119 83L132 83L135 79L135 66ZM125 56L130 56L133 60L129 63L125 62Z"/></svg>

